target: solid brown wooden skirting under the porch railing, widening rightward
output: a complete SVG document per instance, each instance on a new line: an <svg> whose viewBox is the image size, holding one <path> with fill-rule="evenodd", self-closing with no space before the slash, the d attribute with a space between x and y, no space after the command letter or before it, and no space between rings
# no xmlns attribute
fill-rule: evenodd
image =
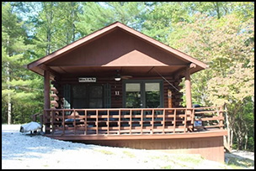
<svg viewBox="0 0 256 171"><path fill-rule="evenodd" d="M224 163L225 130L159 135L47 135L59 140L110 147L163 150L167 153L200 154L203 158Z"/></svg>

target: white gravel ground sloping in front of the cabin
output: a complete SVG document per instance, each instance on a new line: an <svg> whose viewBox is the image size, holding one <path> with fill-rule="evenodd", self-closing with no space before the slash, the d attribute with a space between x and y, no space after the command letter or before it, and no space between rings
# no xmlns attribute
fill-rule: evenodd
<svg viewBox="0 0 256 171"><path fill-rule="evenodd" d="M64 142L29 136L19 128L2 125L2 168L229 168L200 155L193 155L191 160L190 154ZM254 153L250 157L254 158Z"/></svg>

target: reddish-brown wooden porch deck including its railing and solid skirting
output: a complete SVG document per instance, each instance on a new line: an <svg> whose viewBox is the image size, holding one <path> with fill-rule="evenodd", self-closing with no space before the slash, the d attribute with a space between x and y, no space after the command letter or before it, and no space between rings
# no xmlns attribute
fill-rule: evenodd
<svg viewBox="0 0 256 171"><path fill-rule="evenodd" d="M45 136L110 147L200 154L223 163L227 130L223 129L222 112L221 107L51 109L44 111Z"/></svg>

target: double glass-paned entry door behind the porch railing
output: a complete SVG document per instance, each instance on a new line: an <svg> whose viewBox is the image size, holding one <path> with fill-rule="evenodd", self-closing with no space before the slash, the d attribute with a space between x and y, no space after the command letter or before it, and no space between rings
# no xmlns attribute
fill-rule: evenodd
<svg viewBox="0 0 256 171"><path fill-rule="evenodd" d="M129 80L124 83L124 107L163 107L162 80Z"/></svg>

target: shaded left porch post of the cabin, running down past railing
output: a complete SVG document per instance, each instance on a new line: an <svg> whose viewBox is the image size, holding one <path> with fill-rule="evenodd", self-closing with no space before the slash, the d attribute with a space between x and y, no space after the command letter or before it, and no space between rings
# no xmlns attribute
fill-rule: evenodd
<svg viewBox="0 0 256 171"><path fill-rule="evenodd" d="M45 107L44 109L50 109L50 72L44 71L44 88L45 88ZM49 116L49 111L44 111L44 118ZM44 124L49 119L44 119ZM49 120L50 121L50 120ZM50 133L50 124L45 124L45 133Z"/></svg>

